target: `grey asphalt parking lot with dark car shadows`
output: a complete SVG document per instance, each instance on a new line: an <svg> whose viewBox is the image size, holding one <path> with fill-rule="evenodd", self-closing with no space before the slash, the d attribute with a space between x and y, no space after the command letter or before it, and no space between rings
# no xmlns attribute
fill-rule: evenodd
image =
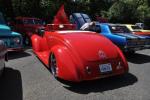
<svg viewBox="0 0 150 100"><path fill-rule="evenodd" d="M0 100L150 100L150 50L127 58L130 73L68 86L53 78L32 49L10 53Z"/></svg>

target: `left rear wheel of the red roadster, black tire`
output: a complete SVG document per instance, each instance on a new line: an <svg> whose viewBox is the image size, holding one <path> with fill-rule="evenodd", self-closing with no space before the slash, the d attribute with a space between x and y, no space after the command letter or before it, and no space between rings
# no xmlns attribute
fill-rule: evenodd
<svg viewBox="0 0 150 100"><path fill-rule="evenodd" d="M58 78L58 72L57 72L58 66L57 66L56 57L53 53L50 55L50 70L51 70L52 75L55 78Z"/></svg>

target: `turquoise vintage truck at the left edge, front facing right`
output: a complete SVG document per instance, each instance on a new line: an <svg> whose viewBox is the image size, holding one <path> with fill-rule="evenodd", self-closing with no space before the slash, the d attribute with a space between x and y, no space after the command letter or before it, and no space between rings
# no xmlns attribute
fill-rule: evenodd
<svg viewBox="0 0 150 100"><path fill-rule="evenodd" d="M0 39L4 41L8 51L19 51L23 49L21 34L11 31L2 13L0 13Z"/></svg>

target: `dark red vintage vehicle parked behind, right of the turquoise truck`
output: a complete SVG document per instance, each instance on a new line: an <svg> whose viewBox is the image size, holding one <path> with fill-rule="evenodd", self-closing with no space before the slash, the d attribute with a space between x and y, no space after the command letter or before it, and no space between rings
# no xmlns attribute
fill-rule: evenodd
<svg viewBox="0 0 150 100"><path fill-rule="evenodd" d="M37 33L39 28L44 28L44 21L39 18L17 17L14 29L23 35L24 44L31 44L31 36Z"/></svg>

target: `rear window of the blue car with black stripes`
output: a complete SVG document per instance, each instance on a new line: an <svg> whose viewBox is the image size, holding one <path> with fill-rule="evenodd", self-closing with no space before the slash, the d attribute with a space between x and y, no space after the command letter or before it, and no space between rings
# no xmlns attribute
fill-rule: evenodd
<svg viewBox="0 0 150 100"><path fill-rule="evenodd" d="M109 26L112 33L131 33L126 26L113 25Z"/></svg>

